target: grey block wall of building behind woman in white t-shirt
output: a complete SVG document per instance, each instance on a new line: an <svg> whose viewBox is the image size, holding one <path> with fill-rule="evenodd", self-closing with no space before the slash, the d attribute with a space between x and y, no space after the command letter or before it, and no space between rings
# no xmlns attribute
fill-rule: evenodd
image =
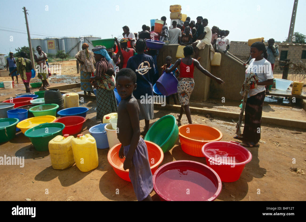
<svg viewBox="0 0 306 222"><path fill-rule="evenodd" d="M279 59L281 51L288 51L287 59L290 59L290 62L295 62L300 65L305 65L306 59L302 59L302 51L306 50L306 44L295 44L295 43L276 43L279 48L279 56L276 59ZM267 43L266 43L267 45ZM230 53L235 56L249 56L250 46L248 42L237 42L231 41L230 43Z"/></svg>

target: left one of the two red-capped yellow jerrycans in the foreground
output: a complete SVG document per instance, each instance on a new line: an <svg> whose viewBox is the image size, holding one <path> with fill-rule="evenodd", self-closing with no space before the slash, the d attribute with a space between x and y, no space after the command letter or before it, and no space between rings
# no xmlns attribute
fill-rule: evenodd
<svg viewBox="0 0 306 222"><path fill-rule="evenodd" d="M74 164L71 142L73 136L69 134L57 135L49 141L49 152L53 169L63 170Z"/></svg>

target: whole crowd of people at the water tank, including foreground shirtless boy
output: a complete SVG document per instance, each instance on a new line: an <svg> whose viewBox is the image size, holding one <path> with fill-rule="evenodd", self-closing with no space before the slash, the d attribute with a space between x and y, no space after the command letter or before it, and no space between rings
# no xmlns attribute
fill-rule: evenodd
<svg viewBox="0 0 306 222"><path fill-rule="evenodd" d="M82 50L75 55L80 62L81 89L84 94L91 94L92 87L96 89L96 118L102 121L104 115L118 113L117 127L120 133L118 132L117 135L121 142L119 157L125 157L123 168L129 169L129 178L138 200L151 200L150 192L153 188L147 147L140 135L145 136L149 130L150 120L154 118L154 104L153 102L141 102L141 96L153 96L153 85L162 73L176 76L178 79L177 94L181 105L177 121L180 123L185 112L189 124L192 124L189 99L196 84L193 78L194 68L196 67L218 84L224 83L223 80L212 75L200 65L199 51L206 45L222 53L227 53L230 48L230 40L226 38L229 31L221 30L216 26L210 28L208 20L201 16L196 18L196 22L190 20L190 17L187 17L183 24L173 21L170 29L167 26L166 17L161 17L161 20L164 24L160 33L154 31L154 26L150 31L150 27L145 24L139 33L133 33L128 26L123 26L124 38L120 42L115 38L116 45L113 48L95 46L90 51L88 50L89 45L84 43ZM165 64L160 67L161 72L159 72L157 67L159 50L147 49L146 39L162 41L166 44L186 45L183 49L184 57L178 59L174 64L172 64L171 56L162 58ZM260 128L265 97L264 86L273 83L272 68L267 69L265 73L259 73L253 69L253 65L270 65L271 67L271 62L266 60L268 53L275 56L278 51L273 47L272 42L270 43L267 48L261 42L252 44L250 50L252 60L246 70L246 79L241 90L241 95L247 98L243 102L243 107L245 107L244 131L241 134L240 122L237 124L239 125L237 136L234 138L240 139L241 145L247 147L258 146L260 132L256 130ZM118 53L115 53L117 49ZM37 65L46 66L47 55L40 46L37 46L36 50L38 53L34 58ZM29 70L32 64L26 57L27 55L22 53L22 57L15 61L10 55L7 66L10 69L10 75L17 76L14 74L16 70L21 74L28 92ZM178 67L180 70L177 69ZM41 71L38 77L43 82L43 88L47 89L48 72ZM114 94L115 87L121 97L118 106ZM166 98L167 103L171 97L177 104L175 94ZM140 131L140 120L145 122L142 132Z"/></svg>

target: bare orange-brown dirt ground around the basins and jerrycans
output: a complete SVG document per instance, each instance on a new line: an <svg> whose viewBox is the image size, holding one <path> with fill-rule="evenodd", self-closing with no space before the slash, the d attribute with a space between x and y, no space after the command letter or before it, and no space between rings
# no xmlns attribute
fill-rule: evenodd
<svg viewBox="0 0 306 222"><path fill-rule="evenodd" d="M75 61L67 62L67 64L73 66ZM69 76L79 76L79 74L73 74L75 73L73 70L69 71L73 67L67 69L65 71L66 74L70 74ZM2 77L0 81L3 81ZM37 82L37 79L33 82ZM63 83L56 83L54 80L53 83L51 81L51 84L56 86ZM34 91L36 90L38 89ZM10 96L14 96L15 93L21 92L24 92L22 83L17 84L17 87L12 90L1 88L0 100L3 101ZM219 103L220 101L216 102ZM173 101L170 100L170 103L173 103ZM85 97L84 103L80 105L89 108L87 120L82 129L82 133L86 134L89 133L88 129L91 126L100 123L95 119L96 101ZM200 104L203 107L209 107L209 105L212 108L219 106L208 102L204 105ZM229 107L225 107L225 109L231 109L230 107L234 107L234 105L229 104ZM271 107L274 110L283 108L279 105ZM292 108L290 106L285 107L287 109ZM236 111L236 108L233 109ZM287 109L279 110L279 112L281 114L287 113L290 111ZM293 107L293 109L296 108ZM238 108L238 110L240 109ZM300 110L297 112L300 112ZM150 121L150 126L159 118L168 114L176 116L177 113L171 112L171 110L155 110L155 118ZM303 118L304 114L300 114L302 115L300 117ZM296 113L297 116L300 114ZM194 123L218 128L223 134L222 141L235 141L233 136L235 135L236 123L233 123L230 119L192 115L192 120ZM183 115L181 124L188 124L185 115ZM140 121L140 127L144 128L143 120ZM262 125L261 140L263 142L260 143L259 148L248 149L252 153L252 161L245 166L240 179L233 183L222 183L222 192L217 200L305 201L306 177L303 173L306 173L306 131ZM136 200L132 184L117 176L109 165L107 161L108 150L98 149L99 166L90 172L81 172L76 165L65 170L54 170L51 166L49 152L36 151L29 139L22 132L18 132L15 139L0 144L0 156L24 157L24 167L0 165L0 200L24 201L26 198L30 198L32 201ZM293 163L293 158L295 158L295 163ZM164 154L161 165L174 160L192 160L206 164L203 157L192 157L185 154L181 150L179 141L169 152ZM295 172L295 168L300 170ZM117 188L119 194L116 194ZM46 189L48 189L48 194ZM260 194L258 189L260 189ZM155 191L151 192L151 196L153 200L159 200Z"/></svg>

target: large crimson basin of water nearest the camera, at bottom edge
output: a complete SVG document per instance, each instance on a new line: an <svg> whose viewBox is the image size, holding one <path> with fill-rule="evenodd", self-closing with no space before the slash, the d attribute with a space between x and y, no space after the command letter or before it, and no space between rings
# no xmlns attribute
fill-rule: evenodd
<svg viewBox="0 0 306 222"><path fill-rule="evenodd" d="M212 168L180 160L158 168L153 187L162 201L213 201L221 193L222 182Z"/></svg>

